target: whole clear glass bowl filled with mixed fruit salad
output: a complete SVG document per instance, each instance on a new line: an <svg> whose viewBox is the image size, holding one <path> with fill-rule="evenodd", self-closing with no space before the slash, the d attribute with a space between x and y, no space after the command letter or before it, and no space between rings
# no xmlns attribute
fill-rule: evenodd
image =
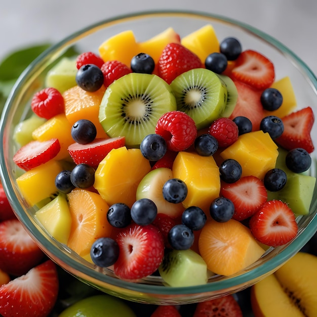
<svg viewBox="0 0 317 317"><path fill-rule="evenodd" d="M242 22L108 19L19 78L3 186L39 247L99 290L154 304L234 293L317 229L316 89L303 61Z"/></svg>

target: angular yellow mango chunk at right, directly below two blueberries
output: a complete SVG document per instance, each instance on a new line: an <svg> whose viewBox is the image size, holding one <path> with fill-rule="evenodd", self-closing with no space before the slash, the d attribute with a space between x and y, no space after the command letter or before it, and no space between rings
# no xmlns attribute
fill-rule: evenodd
<svg viewBox="0 0 317 317"><path fill-rule="evenodd" d="M278 146L261 130L239 136L220 153L223 160L234 159L240 163L242 176L253 175L260 179L275 167L278 155Z"/></svg>

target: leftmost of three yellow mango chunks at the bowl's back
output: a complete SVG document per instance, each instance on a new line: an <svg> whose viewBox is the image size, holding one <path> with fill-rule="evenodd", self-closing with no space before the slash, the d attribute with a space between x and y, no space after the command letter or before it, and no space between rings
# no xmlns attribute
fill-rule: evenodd
<svg viewBox="0 0 317 317"><path fill-rule="evenodd" d="M113 35L99 46L100 57L105 62L118 60L129 67L132 57L139 53L139 46L132 30Z"/></svg>

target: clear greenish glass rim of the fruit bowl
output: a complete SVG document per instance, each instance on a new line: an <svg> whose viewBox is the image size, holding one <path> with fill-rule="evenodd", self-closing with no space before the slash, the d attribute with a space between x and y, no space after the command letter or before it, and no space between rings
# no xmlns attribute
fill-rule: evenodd
<svg viewBox="0 0 317 317"><path fill-rule="evenodd" d="M138 283L131 283L122 281L119 279L112 278L111 276L105 275L99 271L92 270L88 267L85 267L80 262L77 262L75 259L68 257L64 253L62 253L56 246L49 242L49 240L45 239L45 237L41 236L39 233L38 236L33 232L37 232L38 229L35 225L30 221L28 217L25 216L25 211L18 203L15 197L15 191L13 186L10 182L10 176L6 169L6 159L4 156L4 138L5 138L5 128L6 122L8 120L8 115L10 112L10 107L14 102L15 96L19 94L19 89L23 86L27 78L32 73L34 67L38 64L43 62L43 60L48 60L49 56L52 56L55 51L66 46L70 42L72 42L73 38L76 38L80 34L90 32L90 30L95 28L100 28L105 26L106 24L111 23L120 23L121 21L128 20L128 19L138 19L138 18L145 18L149 16L155 17L168 17L168 16L182 16L188 18L211 18L217 20L218 22L223 22L226 24L234 25L235 27L241 28L248 33L251 33L261 39L263 39L267 44L275 47L275 49L282 52L287 58L293 60L293 62L297 65L297 67L301 68L304 74L307 76L308 80L310 81L313 89L316 91L317 94L317 78L310 70L310 68L291 50L289 50L286 46L284 46L281 42L273 38L272 36L244 23L240 22L231 18L227 18L221 15L215 14L208 14L206 12L199 12L199 11L185 11L185 10L159 10L159 11L143 11L143 12L135 12L131 14L115 16L113 18L105 19L93 25L90 25L86 28L83 28L73 34L67 36L59 43L53 45L48 50L46 50L43 54L38 56L20 75L19 79L17 80L16 84L14 85L9 98L5 104L3 114L1 117L0 122L0 146L1 146L1 153L0 153L0 165L1 165L1 179L4 186L4 189L8 195L8 199L13 206L16 214L18 217L23 220L23 225L25 228L31 232L32 236L35 240L38 240L39 243L51 254L57 256L62 262L67 263L67 266L72 267L75 271L81 272L81 275L89 275L91 278L96 280L101 280L104 283L109 285L114 285L116 287L141 292L141 293L151 293L151 294L162 294L162 295L186 295L186 294L200 294L204 292L211 292L211 291L218 291L226 288L234 288L240 284L247 284L252 280L256 280L259 276L266 275L271 271L274 271L276 267L281 266L290 256L295 255L310 239L310 237L314 234L317 229L317 217L311 219L308 225L305 227L304 230L299 232L297 238L287 247L285 247L279 254L275 255L274 258L269 259L264 264L261 264L251 271L247 271L242 275L234 276L233 278L222 280L222 281L214 281L210 284L206 285L199 285L199 286L192 286L192 287L181 287L181 288L172 288L172 287L165 287L165 286L157 286L157 285L149 285L149 284L138 284ZM38 233L38 232L37 232Z"/></svg>

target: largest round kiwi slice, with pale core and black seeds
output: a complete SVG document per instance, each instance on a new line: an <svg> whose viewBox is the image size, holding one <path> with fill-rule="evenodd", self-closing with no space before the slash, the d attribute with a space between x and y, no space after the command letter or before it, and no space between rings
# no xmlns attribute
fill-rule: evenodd
<svg viewBox="0 0 317 317"><path fill-rule="evenodd" d="M125 136L127 147L139 147L155 133L159 118L176 110L171 87L159 76L130 73L107 88L99 108L99 122L110 137Z"/></svg>

